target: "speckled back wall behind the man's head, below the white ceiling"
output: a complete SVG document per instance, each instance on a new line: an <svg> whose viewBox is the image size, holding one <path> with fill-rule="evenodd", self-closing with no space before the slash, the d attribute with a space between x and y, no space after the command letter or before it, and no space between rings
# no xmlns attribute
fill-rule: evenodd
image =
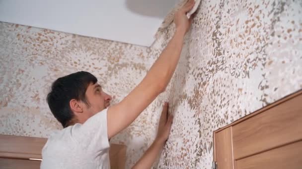
<svg viewBox="0 0 302 169"><path fill-rule="evenodd" d="M0 133L48 137L61 129L48 108L46 95L57 78L76 71L94 74L105 91L114 96L113 104L117 103L141 82L159 52L0 22ZM122 139L113 141L129 146L128 166L133 166L151 144L153 135L142 142L137 137L142 131L133 129L155 131L150 126L155 126L159 117L148 110L121 133ZM147 121L151 116L153 119Z"/></svg>

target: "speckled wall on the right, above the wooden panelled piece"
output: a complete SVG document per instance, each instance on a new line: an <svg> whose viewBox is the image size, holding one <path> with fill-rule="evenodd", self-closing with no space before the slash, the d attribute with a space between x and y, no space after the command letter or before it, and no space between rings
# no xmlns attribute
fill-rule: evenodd
<svg viewBox="0 0 302 169"><path fill-rule="evenodd" d="M214 130L302 88L302 2L203 0L187 38L159 168L210 169Z"/></svg>

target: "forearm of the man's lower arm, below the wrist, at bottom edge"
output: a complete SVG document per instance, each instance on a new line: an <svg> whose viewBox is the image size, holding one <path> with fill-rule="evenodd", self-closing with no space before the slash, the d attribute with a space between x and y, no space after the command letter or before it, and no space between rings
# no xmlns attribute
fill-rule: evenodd
<svg viewBox="0 0 302 169"><path fill-rule="evenodd" d="M132 169L150 169L160 155L164 143L155 140Z"/></svg>

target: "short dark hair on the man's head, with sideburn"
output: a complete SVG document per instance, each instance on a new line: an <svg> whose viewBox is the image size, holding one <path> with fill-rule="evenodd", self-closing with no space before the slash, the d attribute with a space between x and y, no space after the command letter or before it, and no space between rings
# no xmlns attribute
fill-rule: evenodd
<svg viewBox="0 0 302 169"><path fill-rule="evenodd" d="M63 127L68 127L75 116L69 102L75 99L89 105L85 92L89 84L96 82L95 76L81 71L61 77L52 84L51 91L47 95L48 106Z"/></svg>

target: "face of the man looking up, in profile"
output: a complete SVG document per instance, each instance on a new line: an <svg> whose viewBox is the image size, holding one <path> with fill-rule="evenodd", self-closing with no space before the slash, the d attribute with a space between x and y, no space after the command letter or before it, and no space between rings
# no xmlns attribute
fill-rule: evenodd
<svg viewBox="0 0 302 169"><path fill-rule="evenodd" d="M106 109L110 105L110 100L112 99L112 97L105 93L102 90L102 87L97 83L89 84L85 94L89 104L85 109L90 117Z"/></svg>

